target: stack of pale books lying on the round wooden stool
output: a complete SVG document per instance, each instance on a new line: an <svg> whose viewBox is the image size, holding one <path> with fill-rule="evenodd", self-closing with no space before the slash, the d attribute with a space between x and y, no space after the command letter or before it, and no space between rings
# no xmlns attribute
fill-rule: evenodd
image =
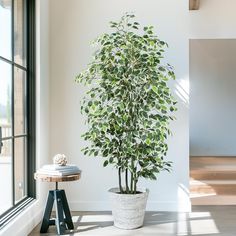
<svg viewBox="0 0 236 236"><path fill-rule="evenodd" d="M55 176L65 176L79 174L81 171L76 165L44 165L42 168L37 170L38 174L41 175L55 175Z"/></svg>

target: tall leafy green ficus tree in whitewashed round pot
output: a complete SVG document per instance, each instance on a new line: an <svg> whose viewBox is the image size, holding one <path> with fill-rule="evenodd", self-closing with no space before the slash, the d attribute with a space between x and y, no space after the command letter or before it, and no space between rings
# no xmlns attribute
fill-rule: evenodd
<svg viewBox="0 0 236 236"><path fill-rule="evenodd" d="M111 33L101 35L92 62L76 81L91 85L82 100L88 131L83 138L89 146L84 154L100 156L103 166L118 170L119 187L112 194L115 226L133 229L142 226L148 190L137 187L140 178L156 180L165 161L169 122L176 110L168 81L172 67L162 65L167 44L153 32L125 14L111 22Z"/></svg>

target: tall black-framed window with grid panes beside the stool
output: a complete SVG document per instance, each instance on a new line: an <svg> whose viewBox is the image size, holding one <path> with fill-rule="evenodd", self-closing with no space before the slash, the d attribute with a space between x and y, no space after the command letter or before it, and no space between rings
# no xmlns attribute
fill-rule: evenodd
<svg viewBox="0 0 236 236"><path fill-rule="evenodd" d="M0 226L35 197L34 11L0 0Z"/></svg>

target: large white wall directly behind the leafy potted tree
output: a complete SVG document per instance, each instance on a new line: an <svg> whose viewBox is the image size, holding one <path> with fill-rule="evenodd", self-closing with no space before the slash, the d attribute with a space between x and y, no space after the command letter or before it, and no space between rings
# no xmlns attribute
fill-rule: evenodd
<svg viewBox="0 0 236 236"><path fill-rule="evenodd" d="M161 39L169 43L166 61L176 68L176 84L181 89L188 79L188 1L51 0L50 4L50 155L65 153L83 170L80 181L63 185L72 210L110 210L107 190L117 186L117 173L103 168L99 158L84 157L80 151L84 146L81 134L86 130L79 107L84 88L75 84L75 75L91 59L90 42L108 30L110 20L131 11L142 24L155 25ZM190 209L186 102L181 95L174 136L169 141L167 159L174 162L173 172L162 173L156 182L140 184L150 189L149 210Z"/></svg>

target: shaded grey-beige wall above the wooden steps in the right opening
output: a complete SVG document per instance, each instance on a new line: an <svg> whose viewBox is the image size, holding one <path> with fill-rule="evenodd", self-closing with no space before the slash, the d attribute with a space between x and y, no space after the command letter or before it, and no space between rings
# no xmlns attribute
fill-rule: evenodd
<svg viewBox="0 0 236 236"><path fill-rule="evenodd" d="M236 40L190 43L190 155L235 156Z"/></svg>

